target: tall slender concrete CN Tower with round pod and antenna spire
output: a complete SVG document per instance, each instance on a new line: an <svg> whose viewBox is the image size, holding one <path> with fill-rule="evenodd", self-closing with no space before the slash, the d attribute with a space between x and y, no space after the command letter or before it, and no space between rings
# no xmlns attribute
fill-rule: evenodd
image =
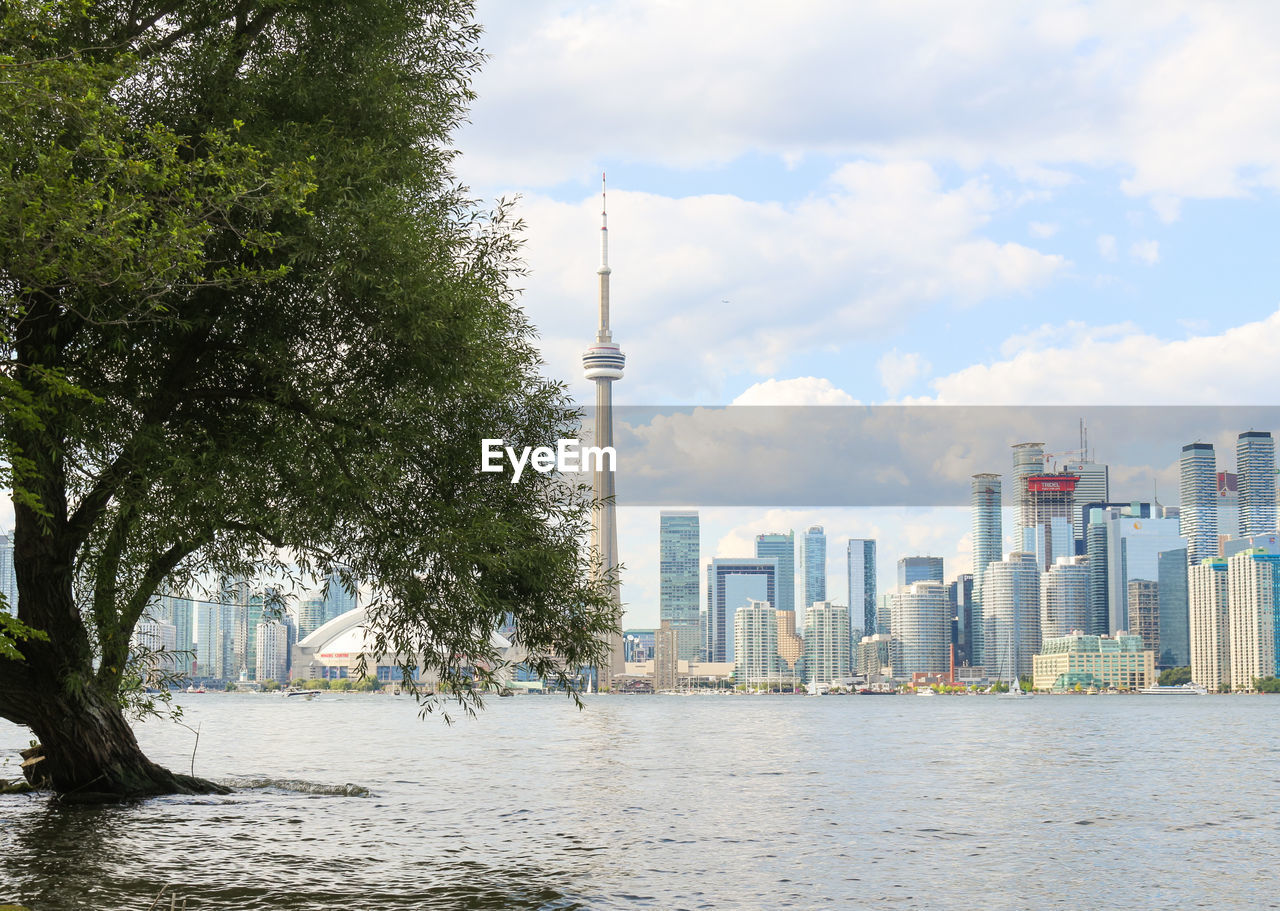
<svg viewBox="0 0 1280 911"><path fill-rule="evenodd" d="M600 328L595 331L595 344L582 352L582 372L595 383L595 445L613 445L613 381L622 379L627 358L622 354L609 331L609 216L604 175L600 175ZM611 466L616 467L616 466ZM604 470L604 459L598 459L591 479L595 505L591 512L591 546L599 559L596 572L614 573L609 585L609 598L618 624L622 623L622 592L618 586L618 522L614 511L613 472ZM608 658L595 669L598 686L612 686L616 676L626 670L622 654L622 633L609 636Z"/></svg>

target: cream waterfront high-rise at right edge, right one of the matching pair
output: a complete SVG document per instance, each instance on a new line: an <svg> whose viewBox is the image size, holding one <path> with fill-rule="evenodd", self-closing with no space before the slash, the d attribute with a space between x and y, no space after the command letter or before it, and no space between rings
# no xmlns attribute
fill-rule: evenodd
<svg viewBox="0 0 1280 911"><path fill-rule="evenodd" d="M1231 691L1252 692L1256 678L1276 676L1280 554L1245 550L1226 564Z"/></svg>

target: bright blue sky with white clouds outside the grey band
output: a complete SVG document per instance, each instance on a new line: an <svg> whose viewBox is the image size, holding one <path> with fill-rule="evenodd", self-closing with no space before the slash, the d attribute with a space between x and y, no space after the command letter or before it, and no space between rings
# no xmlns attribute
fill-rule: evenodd
<svg viewBox="0 0 1280 911"><path fill-rule="evenodd" d="M602 171L620 406L1275 399L1275 4L480 0L477 18L458 173L518 197L522 302L580 400ZM1117 443L1091 436L1100 461ZM849 536L879 539L882 590L900 555L968 568L951 507L701 522L704 560L823 525L836 600ZM620 502L630 626L658 619L657 531L657 507Z"/></svg>

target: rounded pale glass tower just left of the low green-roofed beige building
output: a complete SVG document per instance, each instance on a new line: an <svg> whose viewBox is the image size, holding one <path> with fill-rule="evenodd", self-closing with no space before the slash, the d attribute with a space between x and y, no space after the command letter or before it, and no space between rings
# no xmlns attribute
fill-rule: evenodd
<svg viewBox="0 0 1280 911"><path fill-rule="evenodd" d="M1034 554L1012 553L987 567L983 580L987 673L998 679L1032 673L1039 650L1039 566Z"/></svg>

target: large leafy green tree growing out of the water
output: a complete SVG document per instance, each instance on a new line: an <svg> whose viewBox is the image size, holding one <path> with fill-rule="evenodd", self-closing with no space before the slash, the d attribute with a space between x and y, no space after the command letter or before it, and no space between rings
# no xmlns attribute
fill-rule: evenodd
<svg viewBox="0 0 1280 911"><path fill-rule="evenodd" d="M366 580L375 649L468 709L504 617L534 673L594 664L618 618L582 546L589 493L476 471L481 439L545 444L577 413L517 307L518 221L451 173L470 4L3 17L19 598L0 715L40 738L54 788L215 787L151 763L122 710L129 637L170 586Z"/></svg>

